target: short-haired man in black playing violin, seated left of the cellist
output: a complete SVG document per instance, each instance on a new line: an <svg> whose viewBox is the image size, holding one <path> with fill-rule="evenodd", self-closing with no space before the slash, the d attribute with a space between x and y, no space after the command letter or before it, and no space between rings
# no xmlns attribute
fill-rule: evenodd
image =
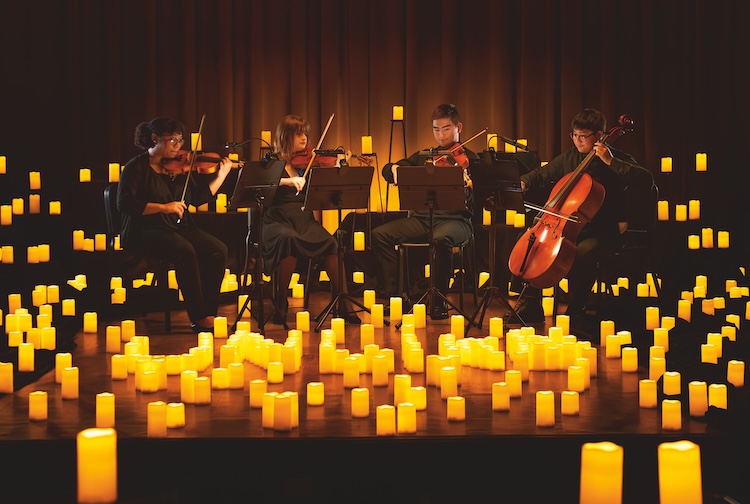
<svg viewBox="0 0 750 504"><path fill-rule="evenodd" d="M445 151L455 149L459 146L459 136L463 124L461 123L458 110L452 104L444 103L438 105L432 113L432 133L438 143L438 150ZM457 149L463 155L461 159L476 159L478 156L459 147ZM463 157L465 156L465 158ZM438 157L440 159L440 156ZM445 165L442 169L464 169L465 166L456 166L456 163L447 158L448 162L436 162L436 166ZM398 167L415 166L420 162L420 153L416 152L407 159L395 163L388 163L383 167L383 177L386 181L398 185ZM462 163L468 166L468 163ZM440 170L441 168L437 168ZM447 211L436 210L434 212L433 238L435 241L436 262L435 271L431 272L436 289L447 295L448 285L453 271L453 247L460 245L471 237L471 216L474 211L474 193L470 187L470 178L465 172L467 181L464 187L466 198L466 210ZM409 216L403 219L387 222L372 231L373 250L378 260L379 283L382 295L388 298L399 296L398 292L398 252L395 246L399 243L410 241L428 241L430 237L430 215L427 208L420 211L411 211ZM430 316L433 320L448 317L448 305L439 297L434 298Z"/></svg>

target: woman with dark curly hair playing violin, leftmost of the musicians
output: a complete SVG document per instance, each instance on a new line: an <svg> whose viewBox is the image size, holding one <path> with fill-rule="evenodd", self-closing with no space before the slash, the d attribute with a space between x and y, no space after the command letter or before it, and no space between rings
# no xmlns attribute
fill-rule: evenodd
<svg viewBox="0 0 750 504"><path fill-rule="evenodd" d="M185 126L167 117L136 127L135 144L144 152L125 164L117 186L120 242L125 250L171 262L193 331L213 331L227 246L196 226L187 208L215 198L232 162L222 158L213 173L191 173L188 163L173 161L184 152L184 135Z"/></svg>

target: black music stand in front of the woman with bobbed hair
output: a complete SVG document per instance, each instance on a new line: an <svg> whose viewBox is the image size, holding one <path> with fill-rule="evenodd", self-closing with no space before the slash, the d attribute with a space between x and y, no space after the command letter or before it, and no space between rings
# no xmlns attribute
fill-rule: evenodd
<svg viewBox="0 0 750 504"><path fill-rule="evenodd" d="M303 209L310 210L338 210L338 229L336 230L336 243L338 245L338 278L341 283L339 292L331 302L323 308L314 320L318 322L315 332L320 331L323 322L328 315L333 313L334 317L339 314L339 303L342 299L359 306L368 313L370 310L362 303L344 292L346 278L344 278L344 246L341 240L341 210L355 208L369 208L370 186L372 185L372 166L349 165L336 168L311 168L307 181L307 193ZM306 286L309 287L309 286ZM389 324L387 320L383 323Z"/></svg>

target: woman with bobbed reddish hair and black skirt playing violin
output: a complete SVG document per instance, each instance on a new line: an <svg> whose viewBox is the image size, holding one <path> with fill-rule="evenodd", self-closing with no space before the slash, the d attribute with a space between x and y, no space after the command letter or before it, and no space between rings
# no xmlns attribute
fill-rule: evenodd
<svg viewBox="0 0 750 504"><path fill-rule="evenodd" d="M308 145L310 123L296 115L287 115L276 127L274 149L279 159L286 161L279 188L271 205L263 215L263 259L266 274L277 275L279 290L276 293L274 323L282 324L289 306L288 285L297 268L297 259L323 257L324 269L331 279L332 297L346 292L346 282L339 278L338 244L336 239L315 219L311 210L303 210L305 201L305 171L314 158ZM332 165L336 160L333 159ZM310 288L306 285L305 288ZM338 317L350 324L360 319L352 311L348 300L339 305Z"/></svg>

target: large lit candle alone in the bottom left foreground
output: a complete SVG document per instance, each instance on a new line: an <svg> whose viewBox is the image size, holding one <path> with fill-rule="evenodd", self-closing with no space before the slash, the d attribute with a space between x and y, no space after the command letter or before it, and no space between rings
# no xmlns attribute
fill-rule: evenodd
<svg viewBox="0 0 750 504"><path fill-rule="evenodd" d="M117 501L117 432L85 429L76 436L78 502Z"/></svg>

